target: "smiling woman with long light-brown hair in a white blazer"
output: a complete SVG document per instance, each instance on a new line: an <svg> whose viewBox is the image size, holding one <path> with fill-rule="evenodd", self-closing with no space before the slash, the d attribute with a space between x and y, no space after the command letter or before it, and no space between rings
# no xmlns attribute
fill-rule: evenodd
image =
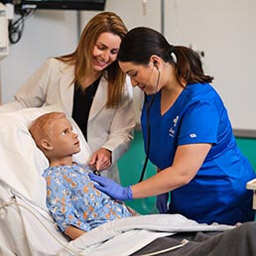
<svg viewBox="0 0 256 256"><path fill-rule="evenodd" d="M86 126L83 135L93 152L89 164L99 171L108 169L103 176L117 182L114 167L127 151L135 126L132 88L116 61L126 33L116 14L94 16L72 54L49 59L17 91L14 102L0 107L2 112L61 103L75 121L83 121L84 107L84 125L77 124L82 131Z"/></svg>

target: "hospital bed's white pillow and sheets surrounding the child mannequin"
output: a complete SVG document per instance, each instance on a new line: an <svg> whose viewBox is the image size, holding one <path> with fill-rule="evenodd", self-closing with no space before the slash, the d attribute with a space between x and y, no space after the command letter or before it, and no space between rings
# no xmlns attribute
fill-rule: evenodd
<svg viewBox="0 0 256 256"><path fill-rule="evenodd" d="M0 113L0 255L141 255L136 253L145 248L159 250L161 244L168 251L166 255L171 255L179 248L191 248L188 239L168 240L177 234L238 230L229 225L198 224L180 214L151 214L110 221L70 241L58 230L46 207L42 173L48 161L28 131L35 118L51 111L64 109L54 105ZM90 149L68 118L81 148L74 161L86 163Z"/></svg>

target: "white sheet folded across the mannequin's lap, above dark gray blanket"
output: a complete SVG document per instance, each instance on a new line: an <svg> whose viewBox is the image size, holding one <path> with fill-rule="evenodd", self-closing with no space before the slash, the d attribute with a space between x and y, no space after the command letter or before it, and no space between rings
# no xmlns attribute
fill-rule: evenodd
<svg viewBox="0 0 256 256"><path fill-rule="evenodd" d="M158 237L177 232L225 231L230 225L198 224L180 214L151 214L114 220L70 242L81 255L130 255ZM59 254L62 255L62 254Z"/></svg>

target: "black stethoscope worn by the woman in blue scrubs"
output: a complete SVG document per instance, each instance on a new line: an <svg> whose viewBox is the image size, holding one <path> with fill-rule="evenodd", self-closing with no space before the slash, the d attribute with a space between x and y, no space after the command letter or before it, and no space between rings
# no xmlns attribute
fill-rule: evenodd
<svg viewBox="0 0 256 256"><path fill-rule="evenodd" d="M158 69L158 68L157 68ZM148 165L148 160L149 160L149 153L150 153L150 133L151 133L151 128L150 128L150 108L155 100L155 96L158 90L158 84L159 84L159 79L160 79L160 70L158 69L158 79L157 79L157 83L156 83L156 87L155 87L155 92L153 94L153 96L151 97L150 101L148 102L148 98L146 93L144 93L145 96L145 106L146 106L146 125L147 125L147 148L146 148L146 157L145 157L145 161L144 161L144 165L141 171L141 177L139 180L139 183L142 182L145 172L146 172L146 168Z"/></svg>

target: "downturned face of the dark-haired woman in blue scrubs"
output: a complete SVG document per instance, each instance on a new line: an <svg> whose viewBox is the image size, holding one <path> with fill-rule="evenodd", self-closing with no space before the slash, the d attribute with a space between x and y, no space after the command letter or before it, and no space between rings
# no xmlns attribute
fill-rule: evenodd
<svg viewBox="0 0 256 256"><path fill-rule="evenodd" d="M158 84L161 74L158 66L153 62L147 65L119 62L119 65L122 71L130 76L133 87L138 86L148 95L157 93L161 89L161 84Z"/></svg>

